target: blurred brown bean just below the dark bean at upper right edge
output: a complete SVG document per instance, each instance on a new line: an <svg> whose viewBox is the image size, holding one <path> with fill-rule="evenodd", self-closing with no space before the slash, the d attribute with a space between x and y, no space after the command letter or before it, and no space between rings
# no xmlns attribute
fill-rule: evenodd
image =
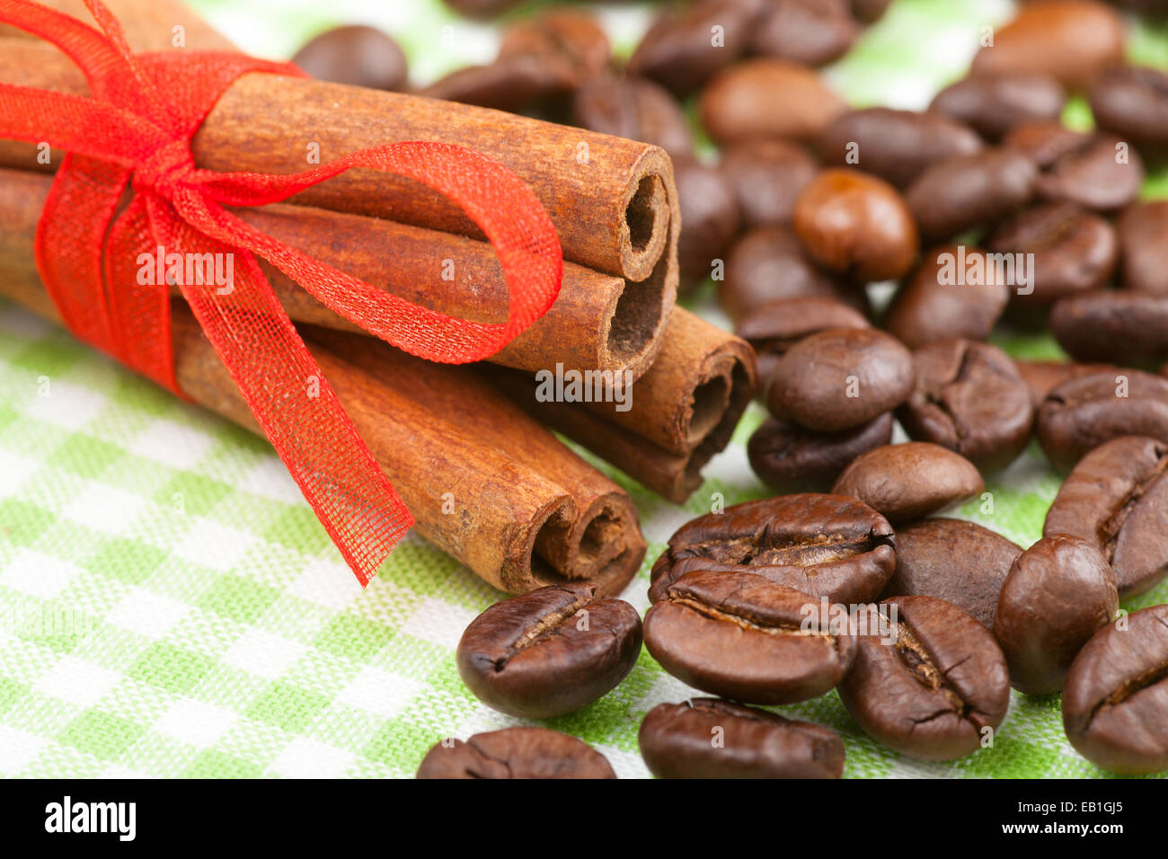
<svg viewBox="0 0 1168 859"><path fill-rule="evenodd" d="M1096 212L1114 212L1135 200L1143 186L1143 159L1111 134L1084 134L1070 152L1043 167L1035 190Z"/></svg>

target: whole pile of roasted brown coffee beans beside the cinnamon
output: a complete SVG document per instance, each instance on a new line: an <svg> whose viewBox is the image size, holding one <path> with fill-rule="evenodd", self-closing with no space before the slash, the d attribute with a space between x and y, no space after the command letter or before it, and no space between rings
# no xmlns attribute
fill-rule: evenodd
<svg viewBox="0 0 1168 859"><path fill-rule="evenodd" d="M1113 5L1047 0L926 110L851 109L819 67L888 5L662 4L627 58L585 8L550 8L508 20L494 62L415 90L672 155L682 288L712 279L758 355L770 416L748 452L778 493L682 526L644 626L591 586L544 588L477 618L459 673L488 706L550 719L609 694L644 642L712 695L645 715L660 777L839 777L834 732L759 708L833 690L903 755L999 754L1011 686L1062 693L1097 766L1166 770L1168 607L1120 604L1168 574L1168 201L1139 200L1168 162L1168 74L1125 62ZM401 50L364 28L297 62L409 88ZM1064 124L1072 98L1092 129ZM1003 328L1049 330L1072 361L1011 360L987 342ZM936 515L985 499L1031 439L1065 474L1041 540ZM418 776L613 771L519 727L444 740Z"/></svg>

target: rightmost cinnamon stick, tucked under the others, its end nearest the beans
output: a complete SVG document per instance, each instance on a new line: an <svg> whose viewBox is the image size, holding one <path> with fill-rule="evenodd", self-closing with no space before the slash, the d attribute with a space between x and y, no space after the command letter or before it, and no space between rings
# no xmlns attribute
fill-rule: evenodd
<svg viewBox="0 0 1168 859"><path fill-rule="evenodd" d="M627 411L607 402L541 399L537 382L515 370L479 372L537 421L675 504L693 494L701 470L730 443L757 382L745 340L681 307L669 320L661 354L632 386Z"/></svg>

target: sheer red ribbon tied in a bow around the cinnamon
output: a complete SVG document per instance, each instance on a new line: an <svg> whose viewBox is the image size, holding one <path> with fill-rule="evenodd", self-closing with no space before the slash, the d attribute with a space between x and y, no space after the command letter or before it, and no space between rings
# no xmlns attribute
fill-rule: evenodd
<svg viewBox="0 0 1168 859"><path fill-rule="evenodd" d="M190 140L236 78L250 71L303 72L238 54L134 55L110 11L99 0L85 5L100 32L40 4L0 0L0 22L61 48L85 72L92 93L82 98L0 84L0 137L69 153L37 228L41 278L78 338L180 393L169 293L165 284L139 284L139 256L154 257L158 248L232 254L230 291L183 282L182 295L276 452L367 584L412 517L284 313L256 255L383 340L431 361L463 363L494 354L551 306L563 272L555 227L514 173L439 143L374 146L290 175L200 169ZM411 304L223 208L285 200L350 167L409 176L461 206L499 255L510 291L507 321L473 323ZM116 215L127 186L133 198Z"/></svg>

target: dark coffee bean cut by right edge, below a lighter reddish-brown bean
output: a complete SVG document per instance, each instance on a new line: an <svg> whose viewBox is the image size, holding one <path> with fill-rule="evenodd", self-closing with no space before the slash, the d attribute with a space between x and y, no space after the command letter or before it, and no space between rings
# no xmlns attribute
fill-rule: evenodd
<svg viewBox="0 0 1168 859"><path fill-rule="evenodd" d="M1168 295L1105 291L1064 298L1050 314L1058 345L1078 361L1168 358Z"/></svg>

